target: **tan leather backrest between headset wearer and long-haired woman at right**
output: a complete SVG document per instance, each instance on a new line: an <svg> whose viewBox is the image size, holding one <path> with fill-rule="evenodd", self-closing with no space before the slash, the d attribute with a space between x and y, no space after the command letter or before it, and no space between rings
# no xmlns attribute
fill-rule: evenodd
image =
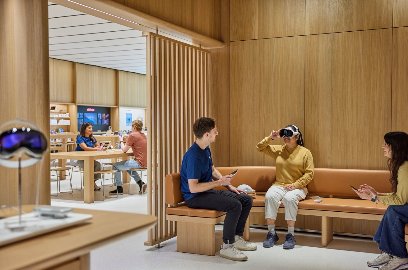
<svg viewBox="0 0 408 270"><path fill-rule="evenodd" d="M307 186L309 194L358 197L350 184L357 189L368 184L378 192L391 192L390 172L380 170L315 168L312 182Z"/></svg>

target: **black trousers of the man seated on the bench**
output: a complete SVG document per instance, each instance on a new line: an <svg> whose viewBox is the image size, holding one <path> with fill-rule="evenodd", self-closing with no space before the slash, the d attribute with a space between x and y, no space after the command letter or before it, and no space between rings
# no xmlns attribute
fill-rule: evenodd
<svg viewBox="0 0 408 270"><path fill-rule="evenodd" d="M222 240L225 244L233 244L235 235L244 234L245 222L252 208L252 197L228 190L208 190L198 193L187 200L186 204L190 208L226 212Z"/></svg>

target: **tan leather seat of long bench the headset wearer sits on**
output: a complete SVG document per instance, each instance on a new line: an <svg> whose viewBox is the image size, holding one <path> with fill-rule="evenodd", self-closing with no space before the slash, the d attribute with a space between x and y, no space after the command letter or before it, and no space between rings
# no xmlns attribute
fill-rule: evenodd
<svg viewBox="0 0 408 270"><path fill-rule="evenodd" d="M265 206L265 194L257 194L252 196L252 207L264 207ZM384 215L387 210L387 206L375 203L370 200L355 200L355 199L337 199L337 198L322 198L322 202L313 202L315 197L306 197L298 204L299 209L308 210L324 210L324 211L336 211L347 213L364 213L364 214L376 214ZM283 208L281 204L279 207Z"/></svg>

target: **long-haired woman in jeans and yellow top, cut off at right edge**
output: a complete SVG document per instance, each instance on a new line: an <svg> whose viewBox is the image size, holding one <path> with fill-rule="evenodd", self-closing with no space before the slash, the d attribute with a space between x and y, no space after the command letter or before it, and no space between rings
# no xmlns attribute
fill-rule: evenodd
<svg viewBox="0 0 408 270"><path fill-rule="evenodd" d="M408 134L388 132L381 147L384 148L384 156L389 158L392 192L379 193L366 184L355 191L361 199L388 205L373 239L379 244L381 255L367 264L381 270L406 269L408 254L404 227L408 223Z"/></svg>

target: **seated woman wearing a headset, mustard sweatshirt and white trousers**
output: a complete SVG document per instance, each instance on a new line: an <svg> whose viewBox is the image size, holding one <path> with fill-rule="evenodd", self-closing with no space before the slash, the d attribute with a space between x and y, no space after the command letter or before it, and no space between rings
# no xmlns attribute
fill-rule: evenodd
<svg viewBox="0 0 408 270"><path fill-rule="evenodd" d="M269 145L277 138L282 138L284 145ZM295 247L297 204L306 198L306 185L312 180L314 172L312 154L303 145L302 133L295 125L288 125L284 129L273 130L256 147L276 161L276 181L265 194L265 218L269 230L263 245L265 248L272 247L279 240L275 233L275 220L281 200L288 224L283 248Z"/></svg>

